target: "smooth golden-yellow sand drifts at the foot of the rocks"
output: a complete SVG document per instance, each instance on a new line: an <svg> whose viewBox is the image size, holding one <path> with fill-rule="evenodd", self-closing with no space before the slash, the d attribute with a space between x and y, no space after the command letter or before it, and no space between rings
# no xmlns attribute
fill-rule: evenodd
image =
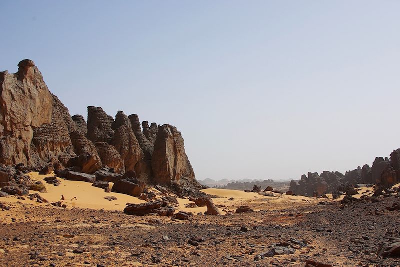
<svg viewBox="0 0 400 267"><path fill-rule="evenodd" d="M45 177L53 176L53 174L40 175L37 172L29 172L27 175L33 181L43 181ZM46 187L46 193L38 193L37 191L29 191L29 194L38 193L41 197L45 198L49 202L61 201L67 205L67 208L90 208L90 209L104 209L104 210L123 210L126 203L144 203L144 200L140 200L137 197L120 194L116 192L104 192L103 189L91 186L91 183L82 181L69 181L58 178L61 181L59 186L48 184L43 181ZM112 183L109 183L109 187L112 187ZM156 189L152 189L158 192ZM303 196L290 196L285 194L274 194L274 197L263 196L258 193L244 192L240 190L231 189L216 189L208 188L201 190L204 193L216 195L218 198L214 198L213 202L219 207L222 214L227 211L235 211L235 209L241 205L248 205L252 202L261 201L272 201L272 202L298 202L308 201L312 202L309 197ZM61 195L64 196L64 200L61 200ZM105 196L115 196L117 199L109 201L104 199ZM233 199L229 199L233 198ZM187 207L186 204L190 203L188 199L177 198L179 204L175 206L176 212L179 210L191 211L193 213L204 212L206 207ZM24 204L32 204L30 200L17 199L15 196L3 197L1 201L4 202L21 202ZM36 206L43 206L48 204L41 204L33 202ZM255 210L258 210L255 208Z"/></svg>

